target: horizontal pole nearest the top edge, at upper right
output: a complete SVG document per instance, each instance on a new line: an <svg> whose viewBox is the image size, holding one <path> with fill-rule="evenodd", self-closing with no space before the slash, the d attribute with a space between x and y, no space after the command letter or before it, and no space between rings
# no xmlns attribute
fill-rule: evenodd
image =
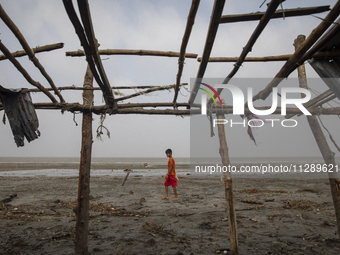
<svg viewBox="0 0 340 255"><path fill-rule="evenodd" d="M316 13L321 13L329 11L330 6L317 6L317 7L307 7L307 8L296 8L296 9L286 9L278 10L272 16L272 19L285 18L285 17L295 17L303 15L311 15ZM232 22L242 22L242 21L254 21L260 20L265 12L255 12L248 14L236 14L236 15L223 15L220 19L220 23L232 23Z"/></svg>

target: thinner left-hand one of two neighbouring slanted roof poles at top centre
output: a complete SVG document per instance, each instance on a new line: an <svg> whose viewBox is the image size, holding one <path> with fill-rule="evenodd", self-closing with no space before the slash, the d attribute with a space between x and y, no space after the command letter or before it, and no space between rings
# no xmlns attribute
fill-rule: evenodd
<svg viewBox="0 0 340 255"><path fill-rule="evenodd" d="M178 72L176 76L176 88L175 88L175 95L174 95L173 103L176 103L177 101L179 85L181 83L181 77L182 77L183 67L184 67L185 51L188 45L192 27L194 26L194 23L195 23L195 17L196 17L199 4L200 4L200 0L192 0L191 8L190 8L189 15L188 15L187 25L186 25L185 32L184 32L183 39L182 39L180 55L178 59Z"/></svg>

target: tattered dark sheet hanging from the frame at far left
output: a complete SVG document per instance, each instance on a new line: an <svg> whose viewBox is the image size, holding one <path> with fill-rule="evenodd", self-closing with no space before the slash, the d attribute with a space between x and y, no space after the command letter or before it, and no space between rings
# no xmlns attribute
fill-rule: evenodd
<svg viewBox="0 0 340 255"><path fill-rule="evenodd" d="M29 92L21 89L6 89L0 86L0 99L18 147L24 146L24 137L33 141L40 136L39 122Z"/></svg>

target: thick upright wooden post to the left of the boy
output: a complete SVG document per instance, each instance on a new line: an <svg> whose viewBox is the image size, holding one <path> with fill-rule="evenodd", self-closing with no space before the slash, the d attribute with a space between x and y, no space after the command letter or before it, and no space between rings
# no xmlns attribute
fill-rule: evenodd
<svg viewBox="0 0 340 255"><path fill-rule="evenodd" d="M93 75L87 66L84 88L93 87ZM84 90L84 105L93 105L93 90ZM89 195L92 152L92 112L83 112L81 158L79 167L78 200L76 212L75 254L88 254Z"/></svg>

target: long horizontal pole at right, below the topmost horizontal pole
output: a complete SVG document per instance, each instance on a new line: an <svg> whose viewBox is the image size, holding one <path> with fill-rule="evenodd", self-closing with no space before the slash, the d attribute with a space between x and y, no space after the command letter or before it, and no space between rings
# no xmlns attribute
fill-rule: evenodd
<svg viewBox="0 0 340 255"><path fill-rule="evenodd" d="M266 57L246 57L243 62L269 62L269 61L287 61L293 54L285 54L278 56L266 56ZM309 58L316 59L331 59L340 56L340 50L334 51L319 51L314 55L309 56ZM216 57L209 58L209 62L237 62L238 57ZM197 58L198 62L202 61L202 58Z"/></svg>

